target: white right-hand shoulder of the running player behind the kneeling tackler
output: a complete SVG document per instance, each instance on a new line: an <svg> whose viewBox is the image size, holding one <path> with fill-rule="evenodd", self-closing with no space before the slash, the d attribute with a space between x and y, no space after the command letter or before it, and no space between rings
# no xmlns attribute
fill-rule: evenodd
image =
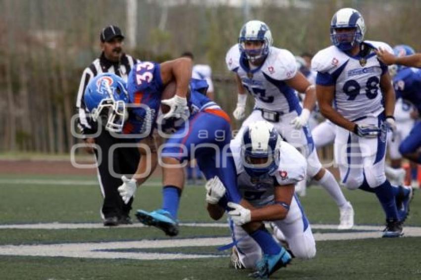
<svg viewBox="0 0 421 280"><path fill-rule="evenodd" d="M262 72L275 80L289 80L297 74L295 56L287 49L270 47Z"/></svg>

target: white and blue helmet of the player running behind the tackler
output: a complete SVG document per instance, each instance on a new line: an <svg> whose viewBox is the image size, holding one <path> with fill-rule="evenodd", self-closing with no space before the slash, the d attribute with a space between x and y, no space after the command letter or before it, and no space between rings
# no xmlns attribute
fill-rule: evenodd
<svg viewBox="0 0 421 280"><path fill-rule="evenodd" d="M247 50L244 46L246 41L261 41L263 42L263 47L260 49ZM241 28L238 43L240 45L240 52L250 61L255 61L265 57L269 53L269 47L271 47L273 43L272 33L263 21L251 20Z"/></svg>

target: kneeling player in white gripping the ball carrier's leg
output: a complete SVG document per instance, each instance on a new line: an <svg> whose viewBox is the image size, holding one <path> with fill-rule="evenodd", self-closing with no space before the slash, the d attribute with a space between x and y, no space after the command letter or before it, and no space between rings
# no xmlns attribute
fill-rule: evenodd
<svg viewBox="0 0 421 280"><path fill-rule="evenodd" d="M236 249L232 258L234 266L253 268L262 258L259 245L242 228L249 222L273 221L285 235L295 257L313 258L315 239L294 194L295 184L306 176L306 159L291 144L282 141L273 126L265 121L250 124L241 141L232 140L230 148L239 191L254 206L249 210L228 203L233 208L228 214ZM211 217L220 218L223 209L216 203L224 194L223 185L209 182L207 190L208 211Z"/></svg>

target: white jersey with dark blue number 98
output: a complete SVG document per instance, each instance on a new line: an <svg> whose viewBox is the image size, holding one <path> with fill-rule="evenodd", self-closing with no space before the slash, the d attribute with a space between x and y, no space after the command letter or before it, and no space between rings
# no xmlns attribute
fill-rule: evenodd
<svg viewBox="0 0 421 280"><path fill-rule="evenodd" d="M382 47L393 53L382 42L366 41L368 46ZM316 83L335 86L334 103L338 112L348 120L378 116L383 110L380 77L387 71L374 51L361 59L349 56L335 46L320 50L312 59L312 70L317 71Z"/></svg>

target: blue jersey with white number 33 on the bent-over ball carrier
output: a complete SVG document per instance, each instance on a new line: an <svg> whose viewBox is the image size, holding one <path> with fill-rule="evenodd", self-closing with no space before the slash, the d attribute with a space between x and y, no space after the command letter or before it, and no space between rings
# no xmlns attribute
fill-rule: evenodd
<svg viewBox="0 0 421 280"><path fill-rule="evenodd" d="M146 108L149 108L152 123L155 124L163 90L158 63L145 61L137 63L132 68L127 81L127 92L132 108L123 128L125 134L152 132L152 129L150 132L145 131Z"/></svg>

